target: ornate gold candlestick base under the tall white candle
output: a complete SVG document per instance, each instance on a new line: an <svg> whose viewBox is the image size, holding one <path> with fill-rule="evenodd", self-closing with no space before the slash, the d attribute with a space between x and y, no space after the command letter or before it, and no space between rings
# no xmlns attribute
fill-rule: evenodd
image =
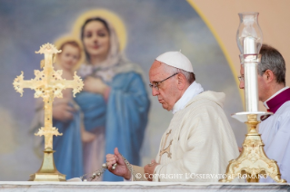
<svg viewBox="0 0 290 192"><path fill-rule="evenodd" d="M247 182L259 182L259 178L271 177L277 183L286 183L281 178L277 162L267 158L264 151L264 143L261 134L255 130L260 121L248 120L245 122L250 127L250 131L245 135L243 150L240 156L229 162L226 168L226 178L219 182L231 182L236 177L245 178Z"/></svg>

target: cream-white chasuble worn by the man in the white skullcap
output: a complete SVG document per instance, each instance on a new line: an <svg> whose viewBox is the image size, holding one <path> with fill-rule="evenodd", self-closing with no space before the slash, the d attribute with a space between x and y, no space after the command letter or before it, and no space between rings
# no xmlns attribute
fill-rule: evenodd
<svg viewBox="0 0 290 192"><path fill-rule="evenodd" d="M239 155L224 101L224 93L205 91L175 112L155 158L154 181L218 182Z"/></svg>

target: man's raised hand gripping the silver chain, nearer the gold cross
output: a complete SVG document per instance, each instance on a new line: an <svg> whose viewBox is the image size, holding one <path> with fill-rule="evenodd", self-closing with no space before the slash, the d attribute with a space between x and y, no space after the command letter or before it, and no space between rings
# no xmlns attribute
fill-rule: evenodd
<svg viewBox="0 0 290 192"><path fill-rule="evenodd" d="M115 154L107 154L105 156L108 170L116 176L121 176L127 180L130 179L131 172L125 165L124 158L121 156L117 148L115 148L114 153ZM115 167L115 170L113 170L112 167L115 163L117 166Z"/></svg>

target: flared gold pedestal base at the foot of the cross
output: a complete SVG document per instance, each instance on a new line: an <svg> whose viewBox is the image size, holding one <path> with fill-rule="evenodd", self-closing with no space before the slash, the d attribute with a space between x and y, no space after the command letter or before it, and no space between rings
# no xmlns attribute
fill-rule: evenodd
<svg viewBox="0 0 290 192"><path fill-rule="evenodd" d="M30 175L29 181L65 181L65 175L55 168L54 152L52 149L45 149L45 157L41 168Z"/></svg>

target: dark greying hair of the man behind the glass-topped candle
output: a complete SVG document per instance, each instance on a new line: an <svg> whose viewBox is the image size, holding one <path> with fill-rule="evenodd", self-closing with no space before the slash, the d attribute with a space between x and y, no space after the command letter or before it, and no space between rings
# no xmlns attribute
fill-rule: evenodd
<svg viewBox="0 0 290 192"><path fill-rule="evenodd" d="M285 84L285 60L281 53L274 47L263 44L260 54L262 54L261 63L258 64L258 74L263 75L266 70L271 70L277 83Z"/></svg>

